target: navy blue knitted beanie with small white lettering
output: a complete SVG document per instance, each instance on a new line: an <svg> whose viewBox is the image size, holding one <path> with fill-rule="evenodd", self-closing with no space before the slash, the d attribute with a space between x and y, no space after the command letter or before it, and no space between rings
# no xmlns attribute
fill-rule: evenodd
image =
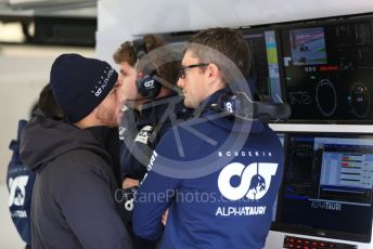
<svg viewBox="0 0 373 249"><path fill-rule="evenodd" d="M108 63L79 54L62 54L53 63L50 84L69 122L87 117L110 93L118 74Z"/></svg>

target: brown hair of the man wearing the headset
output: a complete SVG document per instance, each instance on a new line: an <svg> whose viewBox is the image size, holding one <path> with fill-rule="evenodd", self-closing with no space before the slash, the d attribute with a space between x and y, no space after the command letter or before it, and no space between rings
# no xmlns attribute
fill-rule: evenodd
<svg viewBox="0 0 373 249"><path fill-rule="evenodd" d="M149 34L149 35L145 35L142 39L147 52L151 52L155 49L158 49L167 44L165 39L160 35ZM158 55L159 55L158 53L154 54L154 56L158 56ZM130 66L133 67L137 63L138 57L136 55L132 42L125 41L124 43L121 43L121 45L114 53L113 58L114 58L114 62L117 64L127 62ZM159 60L153 58L152 61L155 62ZM171 84L177 83L179 62L166 62L163 65L156 65L156 66L159 73L159 77L167 80Z"/></svg>

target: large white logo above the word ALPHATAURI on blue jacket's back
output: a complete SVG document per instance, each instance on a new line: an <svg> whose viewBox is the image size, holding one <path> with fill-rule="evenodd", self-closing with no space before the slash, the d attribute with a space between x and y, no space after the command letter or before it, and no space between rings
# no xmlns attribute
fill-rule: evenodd
<svg viewBox="0 0 373 249"><path fill-rule="evenodd" d="M268 192L276 170L278 163L254 162L245 167L240 162L232 162L221 170L218 187L221 195L230 200L239 200L245 196L258 200ZM236 186L231 185L233 178L241 179Z"/></svg>

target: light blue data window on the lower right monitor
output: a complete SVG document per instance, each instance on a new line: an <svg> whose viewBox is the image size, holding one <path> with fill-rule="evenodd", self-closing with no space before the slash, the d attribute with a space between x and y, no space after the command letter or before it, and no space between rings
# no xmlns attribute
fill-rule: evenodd
<svg viewBox="0 0 373 249"><path fill-rule="evenodd" d="M366 140L314 141L321 147L321 174L318 199L371 206L373 186L373 145Z"/></svg>

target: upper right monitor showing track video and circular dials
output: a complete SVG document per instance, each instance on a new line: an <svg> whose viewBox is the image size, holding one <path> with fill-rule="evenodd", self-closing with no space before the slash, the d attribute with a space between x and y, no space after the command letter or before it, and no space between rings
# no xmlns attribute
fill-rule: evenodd
<svg viewBox="0 0 373 249"><path fill-rule="evenodd" d="M372 17L281 29L290 121L373 122Z"/></svg>

